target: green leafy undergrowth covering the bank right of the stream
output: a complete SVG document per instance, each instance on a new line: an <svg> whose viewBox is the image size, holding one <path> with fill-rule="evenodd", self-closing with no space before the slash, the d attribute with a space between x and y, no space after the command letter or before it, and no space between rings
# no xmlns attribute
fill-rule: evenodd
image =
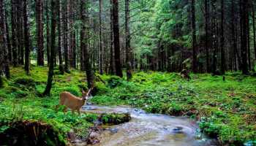
<svg viewBox="0 0 256 146"><path fill-rule="evenodd" d="M96 104L129 104L147 112L186 115L223 144L256 145L256 78L237 73L222 76L138 72L131 82L103 75L106 85L91 99ZM246 143L245 143L246 142Z"/></svg>

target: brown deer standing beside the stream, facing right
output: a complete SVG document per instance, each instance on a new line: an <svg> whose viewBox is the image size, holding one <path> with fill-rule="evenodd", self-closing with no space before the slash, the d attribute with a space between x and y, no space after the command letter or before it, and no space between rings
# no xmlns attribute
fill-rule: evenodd
<svg viewBox="0 0 256 146"><path fill-rule="evenodd" d="M59 109L59 106L64 105L64 113L67 112L67 108L69 108L70 110L72 110L72 114L77 111L80 115L80 108L83 107L84 104L86 104L86 101L89 99L92 89L93 88L90 88L88 92L82 90L81 98L74 96L72 93L69 93L67 91L61 92L59 94L59 104L56 105L56 110Z"/></svg>

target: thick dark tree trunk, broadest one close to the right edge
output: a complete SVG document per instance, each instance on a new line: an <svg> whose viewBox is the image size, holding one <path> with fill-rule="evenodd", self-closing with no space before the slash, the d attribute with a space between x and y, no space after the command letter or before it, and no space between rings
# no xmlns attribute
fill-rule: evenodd
<svg viewBox="0 0 256 146"><path fill-rule="evenodd" d="M241 58L242 58L242 72L249 74L248 70L248 0L240 0L241 9Z"/></svg>

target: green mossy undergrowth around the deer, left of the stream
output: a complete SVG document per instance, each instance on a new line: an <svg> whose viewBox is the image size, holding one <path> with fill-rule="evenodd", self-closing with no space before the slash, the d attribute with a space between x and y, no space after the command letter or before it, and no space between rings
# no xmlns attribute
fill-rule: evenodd
<svg viewBox="0 0 256 146"><path fill-rule="evenodd" d="M58 132L56 139L60 141L64 139L66 144L69 131L73 131L78 137L86 137L89 127L93 126L94 120L99 115L82 113L79 116L78 113L73 115L71 111L64 114L62 112L64 107L59 108L58 111L55 110L55 106L59 104L59 93L62 91L81 96L81 89L86 90L85 73L72 70L70 74L61 75L56 70L53 88L50 96L46 97L41 97L47 80L46 67L32 67L29 76L21 67L12 68L11 74L11 79L9 81L4 79L3 87L0 88L0 134L8 135L9 131L16 129L15 123L38 121L56 129L54 130ZM106 114L104 119L105 123L113 123L113 121L121 123L127 118L125 115ZM49 141L47 145L56 144Z"/></svg>

